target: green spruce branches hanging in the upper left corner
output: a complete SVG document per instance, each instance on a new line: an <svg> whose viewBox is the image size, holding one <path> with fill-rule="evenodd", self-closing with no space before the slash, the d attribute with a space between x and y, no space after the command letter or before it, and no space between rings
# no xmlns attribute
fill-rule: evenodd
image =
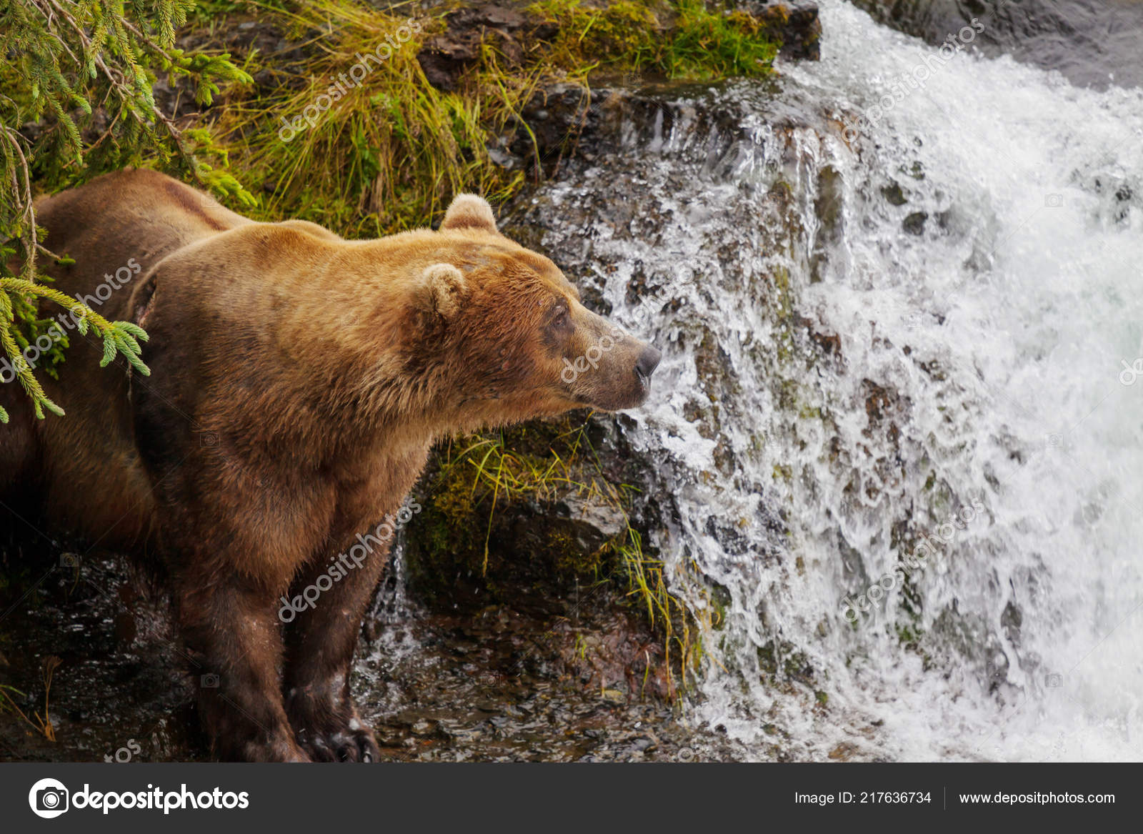
<svg viewBox="0 0 1143 834"><path fill-rule="evenodd" d="M41 302L64 308L81 334L101 339L102 365L121 356L139 374L150 370L141 327L109 321L48 286L38 269L39 256L72 261L41 241L32 172L37 185L51 191L125 165L160 165L218 194L254 202L237 178L206 161L225 164L209 129L181 127L154 100L152 86L161 73L189 81L203 106L225 85L251 80L229 55L175 47L176 31L193 7L194 0L7 0L0 10L0 55L9 62L0 94L0 359L11 365L39 419L45 412L63 414L35 374L55 376L51 365L63 360L67 347L66 335L56 331L40 368L24 360L22 350L53 333L54 323L40 318ZM105 121L96 122L96 116ZM0 407L0 422L8 419Z"/></svg>

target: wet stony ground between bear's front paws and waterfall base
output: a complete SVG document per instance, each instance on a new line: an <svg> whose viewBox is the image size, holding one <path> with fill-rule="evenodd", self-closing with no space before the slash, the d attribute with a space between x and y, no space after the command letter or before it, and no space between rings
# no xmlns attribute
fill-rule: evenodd
<svg viewBox="0 0 1143 834"><path fill-rule="evenodd" d="M654 682L641 691L641 667L624 667L646 648L639 618L617 618L606 593L568 602L555 618L518 601L474 614L405 609L379 623L353 686L385 757L733 757L732 745L686 730L668 704L647 697ZM370 662L378 658L383 669Z"/></svg>

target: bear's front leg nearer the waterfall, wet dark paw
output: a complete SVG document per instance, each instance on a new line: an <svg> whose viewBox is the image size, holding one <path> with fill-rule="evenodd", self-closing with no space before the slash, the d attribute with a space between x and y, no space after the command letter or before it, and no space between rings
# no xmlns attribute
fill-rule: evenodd
<svg viewBox="0 0 1143 834"><path fill-rule="evenodd" d="M290 589L286 632L286 706L297 738L319 762L376 762L373 730L350 694L361 619L385 563L384 548L354 542L304 571Z"/></svg>

